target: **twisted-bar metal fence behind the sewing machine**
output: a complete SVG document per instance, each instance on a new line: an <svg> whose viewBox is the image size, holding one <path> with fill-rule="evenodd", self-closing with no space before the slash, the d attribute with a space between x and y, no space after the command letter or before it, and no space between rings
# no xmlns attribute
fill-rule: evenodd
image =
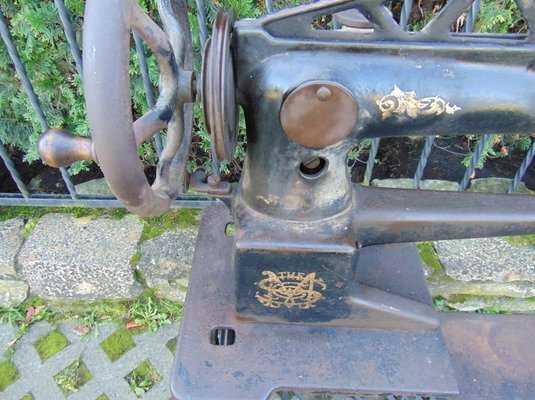
<svg viewBox="0 0 535 400"><path fill-rule="evenodd" d="M76 69L78 73L80 74L80 76L83 76L82 75L83 65L82 65L80 49L76 41L76 35L71 26L68 11L65 7L63 0L54 0L54 2L56 4L59 17L63 24L65 36L67 38L67 42L69 44L72 57L76 64ZM400 25L404 30L407 29L407 23L408 23L409 16L411 13L412 3L413 2L411 0L405 0L403 3L401 16L400 16ZM472 7L470 8L468 12L466 23L465 23L466 32L471 32L473 29L473 26L474 26L474 23L475 23L475 20L477 18L479 8L480 8L479 3L480 3L479 0L475 0L473 2ZM208 37L207 24L206 24L207 15L205 12L203 0L196 0L196 5L197 5L197 19L198 19L198 25L199 25L200 43L202 46L204 46L204 43L206 42L207 37ZM277 5L280 5L280 4L277 3ZM268 13L271 13L280 7L276 7L276 5L273 3L273 0L265 0L265 8ZM334 29L341 29L339 24L336 21L333 21L333 27ZM21 80L24 90L27 96L29 97L30 102L33 106L37 119L40 122L41 128L43 131L45 131L46 129L48 129L48 124L47 124L45 115L41 108L39 99L37 98L35 94L32 83L30 79L28 78L26 69L23 63L21 62L21 58L19 56L18 50L12 40L11 34L9 32L6 20L4 18L4 15L1 9L0 9L0 33L8 49L9 55L16 69L17 75L19 79ZM152 96L151 83L149 81L149 73L148 73L145 50L144 50L143 44L141 43L140 38L136 34L134 34L134 40L135 40L135 45L136 45L136 51L140 58L140 68L141 68L141 74L143 77L143 83L144 83L145 92L146 92L146 99L147 99L148 105L152 106L154 104L154 98ZM159 134L156 135L155 140L156 140L156 148L159 153L162 149L162 139L159 136ZM470 165L466 169L464 178L460 182L460 185L459 185L460 191L464 191L468 188L470 184L471 176L474 173L474 170L476 168L476 165L478 164L479 158L483 154L485 146L489 140L491 140L490 135L483 135L481 139L479 140L478 147L476 151L474 152ZM435 137L432 137L432 136L427 137L425 140L425 146L421 153L420 161L418 163L418 167L414 174L413 186L415 189L420 188L420 182L422 180L427 161L431 155L434 142L435 142ZM371 144L371 149L369 152L367 168L364 174L364 180L362 182L364 185L368 185L370 183L373 168L374 168L374 165L376 164L376 156L377 156L379 146L380 146L380 139L378 138L373 139L372 144ZM96 195L95 196L82 196L82 195L77 194L75 186L72 182L71 176L69 175L69 172L65 168L61 168L61 176L67 187L68 194L31 193L28 187L22 181L19 172L17 171L13 161L10 159L9 154L6 151L6 148L1 142L0 142L0 157L5 163L5 166L7 170L9 171L11 178L16 183L16 186L19 191L19 193L0 193L0 205L121 207L117 199L115 199L112 196L96 196ZM531 147L529 148L529 151L527 152L525 156L525 159L523 160L520 168L518 169L517 173L512 179L512 183L508 189L508 193L515 193L517 191L517 189L519 188L521 179L526 174L526 171L530 167L534 157L535 157L535 147L532 142ZM213 165L214 171L219 170L219 166L217 164L215 157L212 157L212 165ZM209 200L209 199L202 198L202 197L181 196L176 199L176 201L174 202L174 206L206 207L212 203L213 203L213 200Z"/></svg>

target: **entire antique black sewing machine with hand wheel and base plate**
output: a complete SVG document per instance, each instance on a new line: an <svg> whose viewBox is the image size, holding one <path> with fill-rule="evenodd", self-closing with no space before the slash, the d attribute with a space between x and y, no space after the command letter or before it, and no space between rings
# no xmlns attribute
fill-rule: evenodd
<svg viewBox="0 0 535 400"><path fill-rule="evenodd" d="M346 164L364 138L535 131L535 36L451 33L469 0L449 1L421 32L403 31L382 0L321 0L256 20L220 12L197 79L184 2L158 3L165 32L133 0L88 0L93 139L51 130L40 150L56 166L97 161L141 215L187 187L223 200L202 217L173 396L535 398L535 317L436 312L411 244L535 233L535 198L362 187ZM532 2L518 5L535 24ZM350 9L371 29L311 27ZM131 30L161 70L158 102L135 122ZM199 97L219 160L233 156L244 110L235 190L186 172ZM150 186L136 147L165 127Z"/></svg>

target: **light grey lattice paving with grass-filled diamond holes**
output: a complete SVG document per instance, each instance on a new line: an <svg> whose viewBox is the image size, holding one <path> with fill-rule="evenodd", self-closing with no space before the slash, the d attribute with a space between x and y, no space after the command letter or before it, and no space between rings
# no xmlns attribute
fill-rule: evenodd
<svg viewBox="0 0 535 400"><path fill-rule="evenodd" d="M178 324L162 327L155 333L145 332L133 336L135 346L114 362L103 350L102 342L117 331L117 326L112 323L102 325L99 327L98 336L90 333L87 337L81 337L73 330L77 325L75 322L62 322L57 325L40 322L32 325L17 343L16 352L12 358L20 377L0 392L0 398L19 400L30 394L32 397L25 397L25 399L65 399L54 377L77 360L81 360L87 367L91 378L78 391L70 394L67 397L69 400L137 399L126 377L147 360L157 371L161 380L141 398L161 400L171 397L169 380L173 354L166 345L176 338ZM68 345L43 362L36 349L36 342L39 338L56 330L67 338ZM5 348L7 338L12 337L15 332L16 330L7 325L0 325L2 349Z"/></svg>

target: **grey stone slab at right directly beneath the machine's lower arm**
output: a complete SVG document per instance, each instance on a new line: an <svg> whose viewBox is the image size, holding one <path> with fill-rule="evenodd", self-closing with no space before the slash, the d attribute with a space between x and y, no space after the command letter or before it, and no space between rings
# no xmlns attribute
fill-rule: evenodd
<svg viewBox="0 0 535 400"><path fill-rule="evenodd" d="M535 247L502 238L434 242L446 274L464 282L535 282Z"/></svg>

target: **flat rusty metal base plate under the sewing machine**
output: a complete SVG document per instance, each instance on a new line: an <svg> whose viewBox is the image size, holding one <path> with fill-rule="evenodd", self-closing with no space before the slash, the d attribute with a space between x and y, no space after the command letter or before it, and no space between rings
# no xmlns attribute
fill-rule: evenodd
<svg viewBox="0 0 535 400"><path fill-rule="evenodd" d="M524 394L535 394L535 374L526 379L534 372L535 345L511 334L517 333L513 329L519 324L526 329L522 317L444 315L455 372L440 330L400 332L237 319L232 238L224 233L230 222L232 217L224 206L205 210L173 366L174 398L266 399L279 390L457 398L457 381L464 399L529 399ZM362 283L407 295L409 288L395 287L396 276L414 275L417 287L413 296L430 301L419 287L425 281L413 246L377 246L364 249L360 257ZM387 282L383 273L374 274L372 267L377 263L391 266L384 271L391 276ZM509 321L512 329L508 329ZM530 318L529 324L530 332L535 332L535 318ZM217 328L234 330L235 343L211 344L212 331ZM497 341L491 343L491 336ZM509 342L502 343L502 339ZM480 341L484 344L476 345ZM500 348L496 350L495 345ZM501 365L517 356L524 359L519 376L513 374L512 365ZM489 360L489 367L482 366L481 360ZM505 371L503 379L496 377L500 371ZM497 395L481 397L481 387ZM502 392L507 396L500 397Z"/></svg>

